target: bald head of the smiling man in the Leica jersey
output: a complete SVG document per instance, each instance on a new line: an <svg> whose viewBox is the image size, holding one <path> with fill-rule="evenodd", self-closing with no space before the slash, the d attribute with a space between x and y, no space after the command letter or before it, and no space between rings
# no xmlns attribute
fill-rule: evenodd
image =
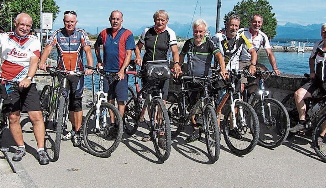
<svg viewBox="0 0 326 188"><path fill-rule="evenodd" d="M30 15L26 13L20 13L14 20L14 24L15 33L20 37L24 37L29 34L29 31L31 30L33 24L33 20Z"/></svg>

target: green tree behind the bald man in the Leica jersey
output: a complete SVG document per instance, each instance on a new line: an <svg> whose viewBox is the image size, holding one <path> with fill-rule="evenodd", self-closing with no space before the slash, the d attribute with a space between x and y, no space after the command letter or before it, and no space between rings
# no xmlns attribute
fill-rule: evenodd
<svg viewBox="0 0 326 188"><path fill-rule="evenodd" d="M52 12L53 21L59 13L59 6L54 0L42 0L43 12ZM27 13L33 19L33 28L40 26L40 1L39 0L2 0L0 3L0 27L10 30L10 18L19 13Z"/></svg>

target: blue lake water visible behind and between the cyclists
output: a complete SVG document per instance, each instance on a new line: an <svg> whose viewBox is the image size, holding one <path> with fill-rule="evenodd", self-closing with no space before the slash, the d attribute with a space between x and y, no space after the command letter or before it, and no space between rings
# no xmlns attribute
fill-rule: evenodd
<svg viewBox="0 0 326 188"><path fill-rule="evenodd" d="M144 51L141 52L141 56L143 55ZM96 56L95 52L92 49L92 54L93 54L93 59L94 59L94 64L96 65ZM103 51L101 52L103 56ZM290 74L296 74L296 75L304 75L304 73L309 73L309 56L310 52L305 52L305 53L297 53L297 52L274 52L276 62L278 69L282 73L290 73ZM52 59L56 60L57 57L57 52L52 51L50 57ZM132 59L135 59L135 54L133 53ZM84 55L83 57L84 64L87 65L86 63L86 57ZM268 58L266 56L266 53L259 53L258 54L258 61L265 65L267 68L271 69L271 65L269 64ZM186 62L186 59L185 59ZM94 66L95 66L94 65ZM96 89L98 85L98 79L99 77L96 75L95 76L95 83L96 83ZM134 79L129 78L129 85L133 85ZM92 88L92 77L87 76L85 78L85 87L88 89Z"/></svg>

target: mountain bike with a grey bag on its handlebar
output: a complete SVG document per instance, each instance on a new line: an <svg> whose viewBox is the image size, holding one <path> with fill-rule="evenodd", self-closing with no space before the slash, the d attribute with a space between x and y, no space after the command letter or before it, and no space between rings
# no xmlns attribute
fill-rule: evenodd
<svg viewBox="0 0 326 188"><path fill-rule="evenodd" d="M149 107L150 121L146 124L151 131L151 138L154 142L157 158L162 161L167 160L170 156L171 131L168 112L162 100L162 91L157 89L157 86L159 81L170 77L169 67L161 66L167 62L167 60L146 62L148 65L158 65L156 66L157 69L153 69L149 74L148 69L146 69L146 73L145 69L126 72L129 76L133 75L135 79L136 95L132 88L129 88L129 94L132 96L130 96L130 99L126 102L123 117L126 133L130 135L134 134L137 131L138 125L145 121L144 115L147 107ZM152 79L149 79L140 89L137 78L142 78L144 75L150 77L150 74L156 74L156 78L152 77ZM153 93L157 93L158 96L152 96ZM142 96L146 96L144 103Z"/></svg>

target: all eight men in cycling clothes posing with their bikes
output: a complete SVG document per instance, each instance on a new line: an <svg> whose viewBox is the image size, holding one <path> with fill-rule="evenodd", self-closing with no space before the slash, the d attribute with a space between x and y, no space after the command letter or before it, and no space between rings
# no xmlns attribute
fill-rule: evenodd
<svg viewBox="0 0 326 188"><path fill-rule="evenodd" d="M266 70L266 67L257 61L257 51L263 47L267 53L269 62L276 75L280 74L277 69L276 60L268 37L260 30L263 24L263 17L259 14L251 16L251 26L239 28L240 17L231 15L226 22L225 30L215 34L212 38L206 36L208 25L203 19L197 19L192 24L193 38L185 41L180 53L178 52L175 32L167 26L169 14L165 10L158 10L153 15L154 26L145 28L139 41L135 44L134 36L130 30L122 27L123 14L119 10L111 12L109 21L111 28L106 28L100 32L95 43L95 54L97 58L97 68L104 68L105 72L116 73L118 80L105 78L104 92L108 93L108 101L115 104L117 100L118 110L121 117L124 115L125 101L128 99L128 80L126 67L128 66L132 51L136 58L135 63L146 69L144 65L148 61L169 60L170 53L174 62L174 77L180 75L211 77L215 70L212 70L211 62L215 59L215 68L219 70L221 79L228 80L230 70L246 69L251 75L255 75L256 68ZM39 98L36 90L34 76L37 68L47 70L46 60L54 47L58 52L57 67L66 71L84 71L85 75L91 75L92 69L84 70L83 52L86 54L87 65L93 66L91 52L91 42L87 33L83 29L76 28L77 13L75 11L65 11L64 28L56 30L47 41L46 47L40 54L40 42L37 37L29 35L32 26L32 18L25 13L19 14L15 21L15 30L0 34L1 52L1 77L19 81L12 94L5 100L3 112L8 113L9 128L18 148L12 158L13 161L20 161L25 155L25 146L20 126L20 112L28 112L29 118L34 127L34 134L37 140L37 151L39 163L46 165L49 163L47 153L44 151L44 133L42 113L40 111ZM326 53L326 24L321 27L322 40L316 43L309 59L310 77L314 80L305 84L295 93L295 101L300 115L297 126L290 129L297 132L305 128L305 105L304 98L311 97L318 92L325 91L325 53ZM103 45L103 58L100 53L100 45ZM141 49L145 47L145 53L141 57ZM187 56L187 69L183 69L185 56ZM39 62L40 58L40 62ZM316 71L315 71L315 65ZM143 71L143 73L148 73ZM315 75L316 73L316 75ZM148 82L148 75L142 77L142 84ZM58 78L60 79L60 78ZM82 145L80 130L82 126L82 96L84 77L75 75L67 76L70 89L69 98L69 119L72 130L62 139L71 139L75 147ZM247 83L244 76L238 82L238 91L244 90ZM1 86L3 86L2 84ZM197 87L196 83L190 83L188 87ZM158 88L162 91L162 100L166 103L168 97L169 80L161 80ZM190 101L196 101L197 92L190 94ZM217 112L220 117L221 111ZM193 142L200 137L201 124L195 116L191 118L193 133L186 138L186 142ZM325 129L326 131L326 129ZM319 137L323 141L325 131ZM232 137L238 137L238 133L231 129ZM151 140L151 134L145 135L143 141ZM166 140L159 139L159 145L166 144Z"/></svg>

